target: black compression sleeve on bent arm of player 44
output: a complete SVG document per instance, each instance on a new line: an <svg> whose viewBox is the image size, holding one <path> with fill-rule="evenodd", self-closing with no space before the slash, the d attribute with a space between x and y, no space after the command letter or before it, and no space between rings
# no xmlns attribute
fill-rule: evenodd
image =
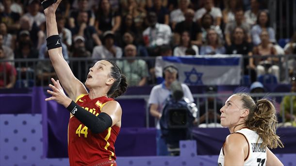
<svg viewBox="0 0 296 166"><path fill-rule="evenodd" d="M74 101L70 103L67 110L88 127L92 133L102 133L112 126L112 118L108 114L101 112L99 116L95 116Z"/></svg>

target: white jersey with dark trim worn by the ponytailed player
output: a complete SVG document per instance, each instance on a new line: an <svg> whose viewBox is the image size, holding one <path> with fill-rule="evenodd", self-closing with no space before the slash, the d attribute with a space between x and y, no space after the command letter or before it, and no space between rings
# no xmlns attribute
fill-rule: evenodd
<svg viewBox="0 0 296 166"><path fill-rule="evenodd" d="M260 148L262 139L257 140L259 135L250 129L243 128L235 133L241 133L245 136L249 147L248 155L245 158L244 166L265 166L266 165L266 148ZM224 145L223 145L224 147ZM224 166L224 151L221 148L218 158L218 166Z"/></svg>

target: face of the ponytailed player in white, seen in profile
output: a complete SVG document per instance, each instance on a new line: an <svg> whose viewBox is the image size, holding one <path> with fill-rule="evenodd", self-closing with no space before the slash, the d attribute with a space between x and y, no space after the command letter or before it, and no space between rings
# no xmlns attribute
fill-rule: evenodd
<svg viewBox="0 0 296 166"><path fill-rule="evenodd" d="M225 105L220 109L221 125L231 128L239 124L242 110L241 97L236 95L230 96Z"/></svg>

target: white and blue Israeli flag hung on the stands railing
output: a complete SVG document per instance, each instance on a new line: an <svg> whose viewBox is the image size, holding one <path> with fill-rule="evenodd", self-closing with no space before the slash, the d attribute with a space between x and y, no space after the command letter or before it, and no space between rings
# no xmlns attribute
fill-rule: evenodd
<svg viewBox="0 0 296 166"><path fill-rule="evenodd" d="M155 62L156 78L162 78L165 66L179 70L179 81L187 85L239 85L242 55L159 56Z"/></svg>

